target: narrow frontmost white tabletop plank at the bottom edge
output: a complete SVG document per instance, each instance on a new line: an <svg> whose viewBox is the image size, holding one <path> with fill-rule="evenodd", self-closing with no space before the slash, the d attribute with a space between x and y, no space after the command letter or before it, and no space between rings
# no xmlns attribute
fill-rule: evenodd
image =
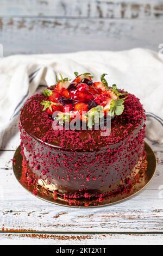
<svg viewBox="0 0 163 256"><path fill-rule="evenodd" d="M0 245L162 245L161 234L0 234ZM55 250L54 250L55 252Z"/></svg>

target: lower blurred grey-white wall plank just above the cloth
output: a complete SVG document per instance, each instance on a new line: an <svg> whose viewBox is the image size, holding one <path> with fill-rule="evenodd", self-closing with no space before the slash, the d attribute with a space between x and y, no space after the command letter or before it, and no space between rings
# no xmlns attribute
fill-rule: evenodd
<svg viewBox="0 0 163 256"><path fill-rule="evenodd" d="M65 53L84 50L158 51L161 20L3 18L0 38L4 56L18 53Z"/></svg>

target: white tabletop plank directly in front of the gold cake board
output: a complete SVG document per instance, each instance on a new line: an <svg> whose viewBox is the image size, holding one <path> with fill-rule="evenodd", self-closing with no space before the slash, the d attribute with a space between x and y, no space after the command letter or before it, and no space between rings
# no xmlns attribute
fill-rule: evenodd
<svg viewBox="0 0 163 256"><path fill-rule="evenodd" d="M19 192L19 191L18 191ZM17 193L18 196L18 193ZM65 208L33 197L0 204L3 231L162 232L162 198L144 191L121 204L97 209Z"/></svg>

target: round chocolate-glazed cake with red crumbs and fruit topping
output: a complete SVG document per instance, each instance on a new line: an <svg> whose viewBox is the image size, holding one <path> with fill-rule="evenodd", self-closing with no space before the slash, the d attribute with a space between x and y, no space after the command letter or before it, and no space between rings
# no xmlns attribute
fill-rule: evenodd
<svg viewBox="0 0 163 256"><path fill-rule="evenodd" d="M33 173L30 183L37 182L65 198L102 198L125 191L136 180L146 156L145 111L135 95L127 94L122 113L111 119L109 136L95 129L72 131L63 126L53 130L56 110L79 112L81 118L82 111L100 105L105 113L111 99L123 99L104 85L103 77L102 82L93 83L90 75L77 75L72 83L62 79L45 94L27 100L20 131L24 169L28 166ZM50 103L49 108L45 101L57 105Z"/></svg>

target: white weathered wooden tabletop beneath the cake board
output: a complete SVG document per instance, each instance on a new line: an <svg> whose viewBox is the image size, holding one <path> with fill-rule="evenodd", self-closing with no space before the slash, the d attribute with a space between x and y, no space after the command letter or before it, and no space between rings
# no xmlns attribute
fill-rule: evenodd
<svg viewBox="0 0 163 256"><path fill-rule="evenodd" d="M152 144L157 171L151 184L126 202L74 209L37 199L18 184L12 171L19 145L17 127L0 151L0 244L106 245L163 242L163 147Z"/></svg>

